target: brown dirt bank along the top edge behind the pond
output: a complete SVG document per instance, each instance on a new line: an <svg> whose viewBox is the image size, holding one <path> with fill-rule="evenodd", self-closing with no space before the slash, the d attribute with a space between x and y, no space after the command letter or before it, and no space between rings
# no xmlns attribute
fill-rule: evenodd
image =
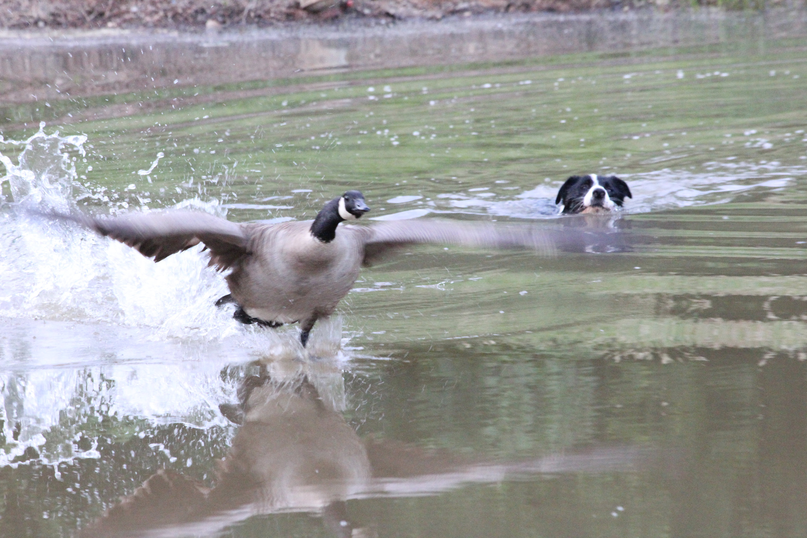
<svg viewBox="0 0 807 538"><path fill-rule="evenodd" d="M269 26L341 17L441 19L497 12L580 12L656 6L762 9L792 0L0 0L3 28L194 28Z"/></svg>

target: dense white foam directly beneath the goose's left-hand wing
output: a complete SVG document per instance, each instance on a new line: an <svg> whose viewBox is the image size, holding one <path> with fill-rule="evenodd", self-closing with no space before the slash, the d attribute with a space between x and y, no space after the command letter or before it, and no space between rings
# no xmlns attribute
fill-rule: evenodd
<svg viewBox="0 0 807 538"><path fill-rule="evenodd" d="M0 249L0 316L153 327L161 337L237 332L214 306L227 286L200 247L155 264L90 231L16 215L2 223Z"/></svg>

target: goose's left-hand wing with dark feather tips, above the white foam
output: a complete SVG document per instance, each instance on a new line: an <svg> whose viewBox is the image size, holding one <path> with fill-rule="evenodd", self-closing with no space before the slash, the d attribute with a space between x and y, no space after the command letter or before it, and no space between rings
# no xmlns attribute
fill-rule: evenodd
<svg viewBox="0 0 807 538"><path fill-rule="evenodd" d="M249 237L245 227L200 211L160 211L130 213L114 218L102 218L73 213L51 214L70 220L109 236L154 261L203 243L211 252L210 265L227 269L248 253Z"/></svg>

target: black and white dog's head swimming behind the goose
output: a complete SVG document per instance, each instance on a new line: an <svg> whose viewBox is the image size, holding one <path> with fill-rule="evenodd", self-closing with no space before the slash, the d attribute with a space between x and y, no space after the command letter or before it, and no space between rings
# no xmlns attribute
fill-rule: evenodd
<svg viewBox="0 0 807 538"><path fill-rule="evenodd" d="M555 203L563 204L561 213L604 213L622 206L625 196L633 198L625 181L617 176L572 176L558 190Z"/></svg>

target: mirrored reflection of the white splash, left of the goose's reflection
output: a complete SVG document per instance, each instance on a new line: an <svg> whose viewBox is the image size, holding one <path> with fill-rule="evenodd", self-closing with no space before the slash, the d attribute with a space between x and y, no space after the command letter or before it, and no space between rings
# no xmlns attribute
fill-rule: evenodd
<svg viewBox="0 0 807 538"><path fill-rule="evenodd" d="M122 419L122 425L125 417L140 417L147 428L225 426L216 408L235 387L220 378L222 367L221 361L182 361L0 373L0 465L30 459L25 456L31 451L45 465L98 457L91 421L104 417ZM82 436L92 444L82 447Z"/></svg>

